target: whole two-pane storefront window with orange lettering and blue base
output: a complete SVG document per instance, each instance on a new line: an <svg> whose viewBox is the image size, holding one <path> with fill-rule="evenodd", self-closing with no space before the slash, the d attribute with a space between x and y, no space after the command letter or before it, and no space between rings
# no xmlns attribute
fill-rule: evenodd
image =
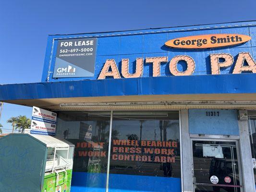
<svg viewBox="0 0 256 192"><path fill-rule="evenodd" d="M180 192L179 112L114 111L108 162L110 116L58 113L56 136L75 144L73 191Z"/></svg>

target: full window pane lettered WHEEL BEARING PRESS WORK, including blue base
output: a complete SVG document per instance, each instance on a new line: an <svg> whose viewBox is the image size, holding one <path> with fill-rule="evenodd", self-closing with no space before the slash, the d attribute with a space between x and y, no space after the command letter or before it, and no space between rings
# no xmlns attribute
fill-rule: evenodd
<svg viewBox="0 0 256 192"><path fill-rule="evenodd" d="M109 191L181 191L179 113L114 112Z"/></svg>

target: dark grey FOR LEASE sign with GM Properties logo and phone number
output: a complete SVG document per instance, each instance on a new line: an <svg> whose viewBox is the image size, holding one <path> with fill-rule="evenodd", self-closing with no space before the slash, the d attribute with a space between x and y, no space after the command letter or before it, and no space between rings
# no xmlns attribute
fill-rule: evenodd
<svg viewBox="0 0 256 192"><path fill-rule="evenodd" d="M97 38L58 41L53 78L93 77Z"/></svg>

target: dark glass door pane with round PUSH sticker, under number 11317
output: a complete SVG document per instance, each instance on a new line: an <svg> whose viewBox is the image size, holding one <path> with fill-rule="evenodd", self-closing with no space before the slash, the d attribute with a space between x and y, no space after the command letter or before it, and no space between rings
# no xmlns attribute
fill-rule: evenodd
<svg viewBox="0 0 256 192"><path fill-rule="evenodd" d="M195 192L241 192L236 142L192 142Z"/></svg>

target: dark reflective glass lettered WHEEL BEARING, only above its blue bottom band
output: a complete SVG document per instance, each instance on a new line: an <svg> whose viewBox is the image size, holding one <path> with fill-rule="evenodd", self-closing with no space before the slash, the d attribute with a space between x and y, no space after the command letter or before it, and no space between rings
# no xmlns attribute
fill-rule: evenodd
<svg viewBox="0 0 256 192"><path fill-rule="evenodd" d="M110 173L181 177L178 112L114 112Z"/></svg>

